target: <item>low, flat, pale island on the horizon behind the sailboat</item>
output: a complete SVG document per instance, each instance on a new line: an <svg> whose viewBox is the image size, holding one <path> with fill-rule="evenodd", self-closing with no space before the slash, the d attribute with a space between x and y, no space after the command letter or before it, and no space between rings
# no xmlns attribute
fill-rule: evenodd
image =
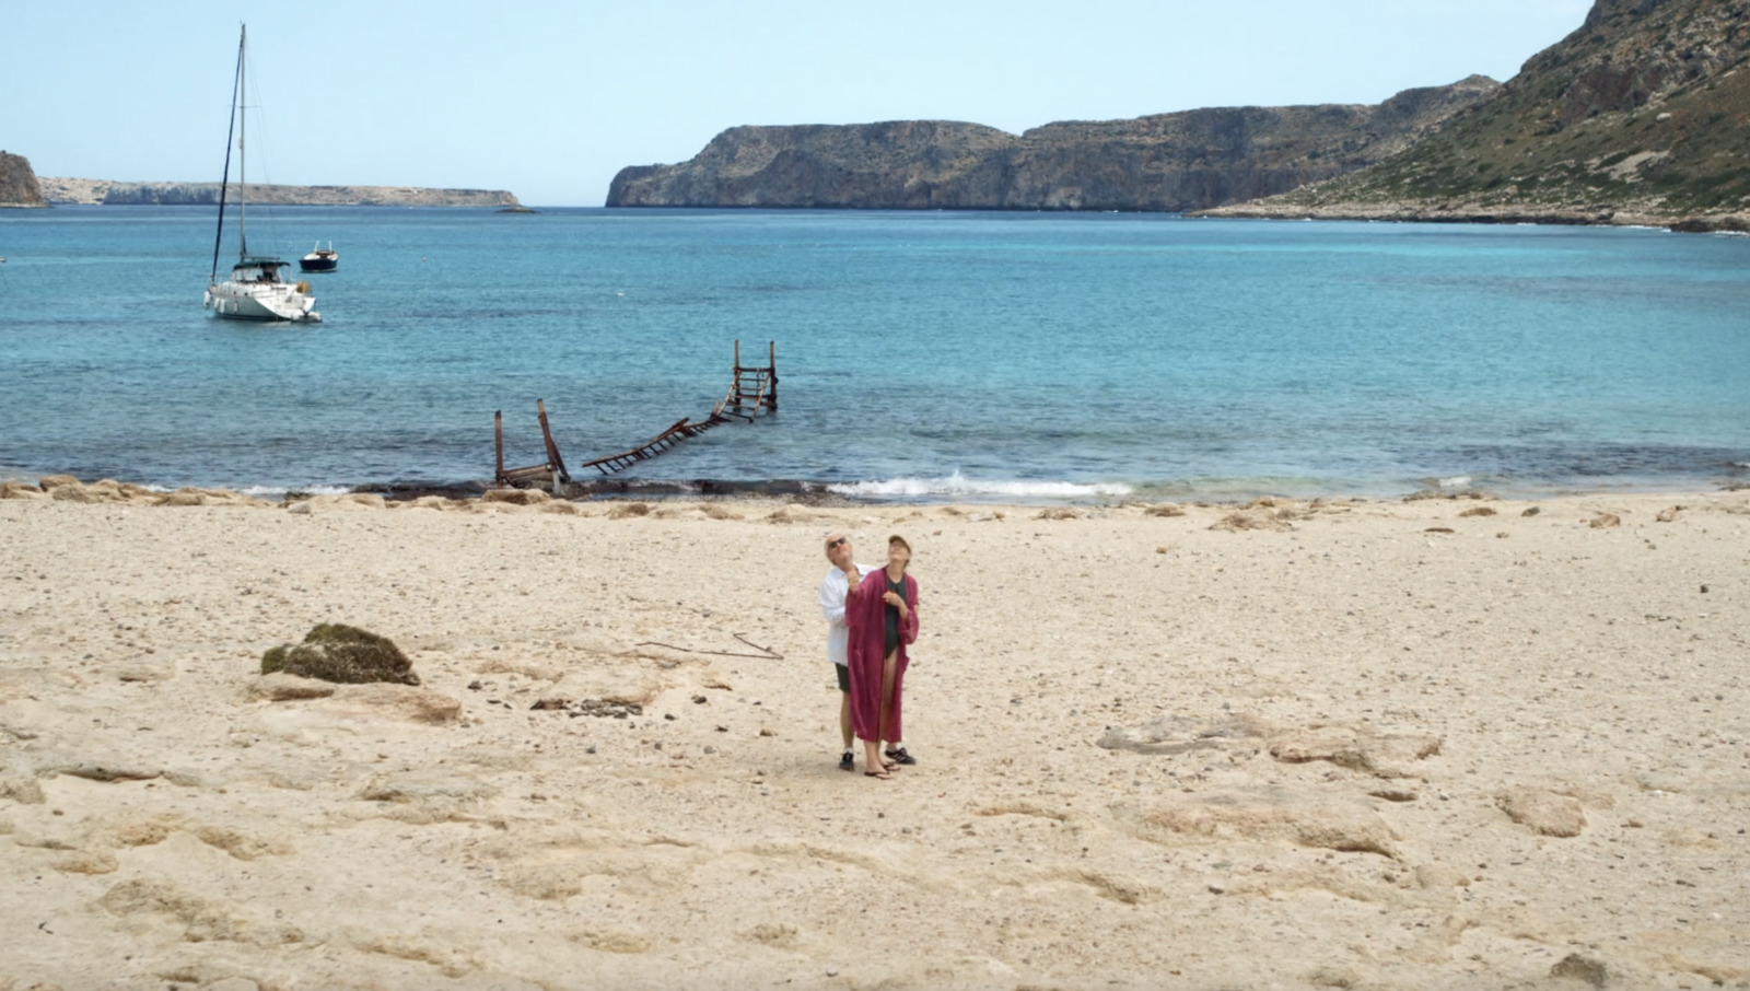
<svg viewBox="0 0 1750 991"><path fill-rule="evenodd" d="M42 177L51 205L212 207L217 182L112 182L107 179ZM424 189L416 186L261 186L247 187L250 203L276 207L516 207L506 189ZM236 187L231 187L231 198Z"/></svg>

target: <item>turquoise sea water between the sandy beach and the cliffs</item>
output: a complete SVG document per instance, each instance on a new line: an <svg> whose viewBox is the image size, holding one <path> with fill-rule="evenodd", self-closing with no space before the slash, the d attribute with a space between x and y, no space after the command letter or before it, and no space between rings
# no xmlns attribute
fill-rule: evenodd
<svg viewBox="0 0 1750 991"><path fill-rule="evenodd" d="M1750 464L1750 238L1171 215L280 208L317 326L201 310L212 210L0 214L0 478L623 478L866 497L1689 488ZM234 250L234 249L228 249Z"/></svg>

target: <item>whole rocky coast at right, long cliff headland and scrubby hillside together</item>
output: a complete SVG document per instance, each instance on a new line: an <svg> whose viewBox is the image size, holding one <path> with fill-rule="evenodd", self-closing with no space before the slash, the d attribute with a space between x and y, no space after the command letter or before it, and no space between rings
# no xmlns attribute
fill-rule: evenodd
<svg viewBox="0 0 1750 991"><path fill-rule="evenodd" d="M1069 121L742 126L609 207L1169 210L1750 229L1750 5L1594 0L1507 84Z"/></svg>

